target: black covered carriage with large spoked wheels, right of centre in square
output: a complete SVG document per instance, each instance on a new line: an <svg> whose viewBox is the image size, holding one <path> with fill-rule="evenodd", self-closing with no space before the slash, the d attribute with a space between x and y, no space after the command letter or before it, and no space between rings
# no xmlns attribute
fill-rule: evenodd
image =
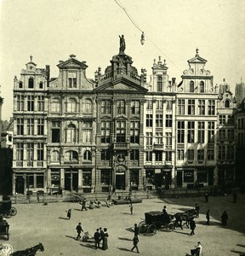
<svg viewBox="0 0 245 256"><path fill-rule="evenodd" d="M145 220L139 224L140 233L153 236L157 230L173 231L174 219L168 213L160 211L145 212Z"/></svg>

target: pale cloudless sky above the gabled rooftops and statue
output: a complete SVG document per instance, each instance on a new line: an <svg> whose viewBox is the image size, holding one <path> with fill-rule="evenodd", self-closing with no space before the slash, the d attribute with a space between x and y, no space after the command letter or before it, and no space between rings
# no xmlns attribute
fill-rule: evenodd
<svg viewBox="0 0 245 256"><path fill-rule="evenodd" d="M0 0L2 118L12 116L14 75L20 79L30 55L37 67L50 65L55 78L59 61L74 54L86 61L87 78L94 79L98 67L104 73L119 53L122 34L125 54L138 73L142 67L147 70L148 79L153 60L161 56L169 79L179 83L198 48L214 84L225 79L235 93L235 84L245 80L245 1Z"/></svg>

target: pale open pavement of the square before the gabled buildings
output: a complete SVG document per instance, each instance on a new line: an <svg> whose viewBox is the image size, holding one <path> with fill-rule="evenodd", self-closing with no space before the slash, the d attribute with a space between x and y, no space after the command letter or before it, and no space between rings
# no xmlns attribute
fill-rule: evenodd
<svg viewBox="0 0 245 256"><path fill-rule="evenodd" d="M101 207L81 211L81 205L71 202L14 205L18 213L9 218L9 241L0 236L0 243L9 243L14 251L43 243L45 251L37 255L73 256L73 255L134 255L130 251L134 233L134 223L139 224L145 218L144 212L162 211L164 205L168 213L190 209L198 203L201 214L196 218L195 236L189 236L190 231L177 229L174 232L157 230L155 236L140 235L140 255L190 255L190 249L202 242L204 256L239 255L245 253L245 195L238 195L237 203L232 202L231 195L210 197L208 203L202 197L145 199L143 203L134 204L134 214L129 214L128 205ZM71 208L71 219L66 218L66 211ZM210 209L210 225L205 224L205 212ZM220 215L226 210L229 214L228 225L220 225ZM109 250L94 249L94 242L76 241L75 230L78 222L84 231L94 236L96 228L108 229ZM136 252L135 252L136 253Z"/></svg>

